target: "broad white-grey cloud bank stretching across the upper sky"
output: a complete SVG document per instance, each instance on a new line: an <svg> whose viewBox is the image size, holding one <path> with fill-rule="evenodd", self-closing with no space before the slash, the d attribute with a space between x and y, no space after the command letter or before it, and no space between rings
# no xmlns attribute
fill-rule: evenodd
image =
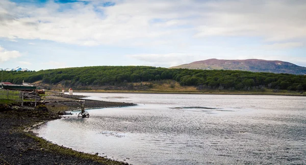
<svg viewBox="0 0 306 165"><path fill-rule="evenodd" d="M99 1L37 6L0 2L0 37L78 45L134 45L183 36L260 37L264 41L306 38L306 2ZM148 42L149 43L149 42Z"/></svg>

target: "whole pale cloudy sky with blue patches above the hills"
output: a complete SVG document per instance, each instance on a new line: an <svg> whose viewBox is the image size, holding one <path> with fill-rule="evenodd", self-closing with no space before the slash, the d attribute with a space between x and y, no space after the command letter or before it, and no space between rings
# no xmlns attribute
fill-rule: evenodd
<svg viewBox="0 0 306 165"><path fill-rule="evenodd" d="M306 1L0 1L0 68L171 67L207 59L306 67Z"/></svg>

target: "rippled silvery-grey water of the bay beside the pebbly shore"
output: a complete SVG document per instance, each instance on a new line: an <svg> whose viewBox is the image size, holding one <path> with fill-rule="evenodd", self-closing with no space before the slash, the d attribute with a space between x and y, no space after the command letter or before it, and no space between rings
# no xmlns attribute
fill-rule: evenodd
<svg viewBox="0 0 306 165"><path fill-rule="evenodd" d="M132 164L306 163L306 97L79 94L138 105L90 109L88 119L73 115L36 132Z"/></svg>

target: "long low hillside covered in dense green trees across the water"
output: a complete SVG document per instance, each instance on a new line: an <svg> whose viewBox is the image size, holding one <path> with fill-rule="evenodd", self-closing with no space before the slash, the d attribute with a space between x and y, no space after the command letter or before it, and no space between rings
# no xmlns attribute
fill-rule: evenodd
<svg viewBox="0 0 306 165"><path fill-rule="evenodd" d="M49 69L37 72L4 71L4 81L14 84L42 80L45 84L61 82L66 87L120 86L129 82L173 79L181 86L197 89L281 89L306 90L306 76L238 70L167 69L147 66L94 66Z"/></svg>

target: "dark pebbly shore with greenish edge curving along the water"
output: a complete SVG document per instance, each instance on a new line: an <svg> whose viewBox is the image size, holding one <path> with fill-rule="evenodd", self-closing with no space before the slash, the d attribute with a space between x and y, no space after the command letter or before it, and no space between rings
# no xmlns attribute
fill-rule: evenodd
<svg viewBox="0 0 306 165"><path fill-rule="evenodd" d="M44 99L67 100L75 98L45 96ZM131 105L135 104L85 101L86 108ZM37 137L31 131L24 131L37 123L60 119L59 111L72 111L79 109L79 106L75 103L46 103L34 108L20 107L16 103L0 104L0 164L127 164L54 145Z"/></svg>

